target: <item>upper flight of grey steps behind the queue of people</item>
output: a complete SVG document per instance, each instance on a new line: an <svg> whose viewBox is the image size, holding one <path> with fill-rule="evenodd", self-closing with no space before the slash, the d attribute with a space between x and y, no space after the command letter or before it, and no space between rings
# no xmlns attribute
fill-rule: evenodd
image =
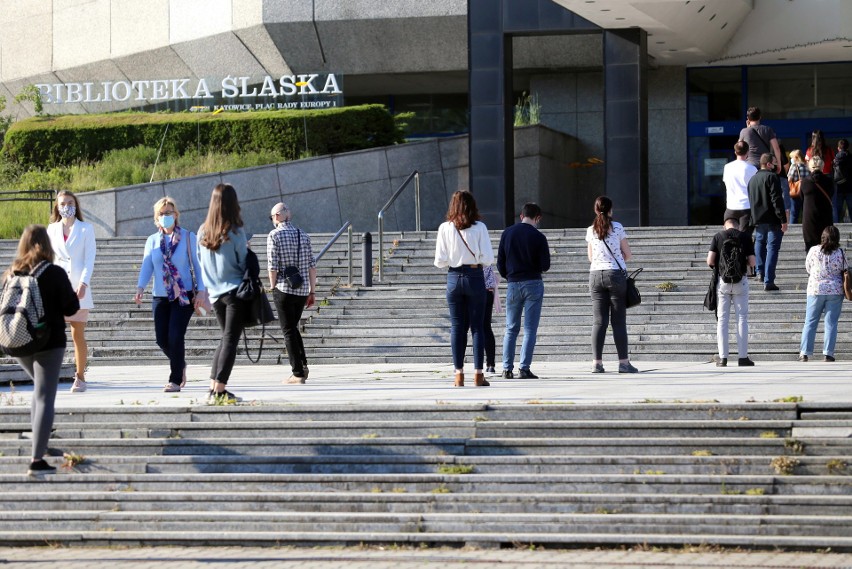
<svg viewBox="0 0 852 569"><path fill-rule="evenodd" d="M712 314L701 303L710 272L705 259L717 228L650 227L629 229L634 260L644 267L638 283L643 303L630 310L630 350L637 360L706 360L715 353ZM849 244L852 226L841 226ZM588 297L588 260L585 230L546 231L553 266L546 275L546 293L536 346L538 361L586 360L589 355L591 307ZM499 232L493 232L496 250ZM330 235L315 235L318 251ZM335 244L318 267L317 307L306 311L304 336L311 363L447 362L450 359L449 318L444 295L445 275L432 265L435 232L391 234L385 252L384 282L348 287L348 253ZM154 342L150 303L132 302L144 245L143 238L102 239L92 283L96 308L91 313L87 339L91 365L137 364L160 361ZM0 265L14 251L12 241L0 242ZM265 263L265 238L253 240ZM355 281L361 282L361 255L356 239ZM375 249L375 245L374 245ZM376 255L374 255L375 257ZM661 290L668 283L671 290ZM766 293L753 286L750 297L750 352L757 360L793 358L797 353L805 313L804 245L800 227L785 237L778 269L780 292ZM502 289L505 294L505 288ZM837 352L852 352L848 311L841 316ZM498 360L503 318L494 317ZM523 333L522 333L523 334ZM256 350L260 331L249 331ZM219 341L214 318L193 318L187 333L187 356L206 363ZM732 338L733 341L733 338ZM821 341L821 332L817 336ZM520 339L519 339L520 342ZM606 357L614 357L608 338ZM69 357L71 356L69 350ZM240 351L238 364L247 364ZM9 360L0 360L9 363ZM264 363L285 362L277 324L267 330ZM19 373L7 368L7 374ZM2 380L2 374L0 374Z"/></svg>

